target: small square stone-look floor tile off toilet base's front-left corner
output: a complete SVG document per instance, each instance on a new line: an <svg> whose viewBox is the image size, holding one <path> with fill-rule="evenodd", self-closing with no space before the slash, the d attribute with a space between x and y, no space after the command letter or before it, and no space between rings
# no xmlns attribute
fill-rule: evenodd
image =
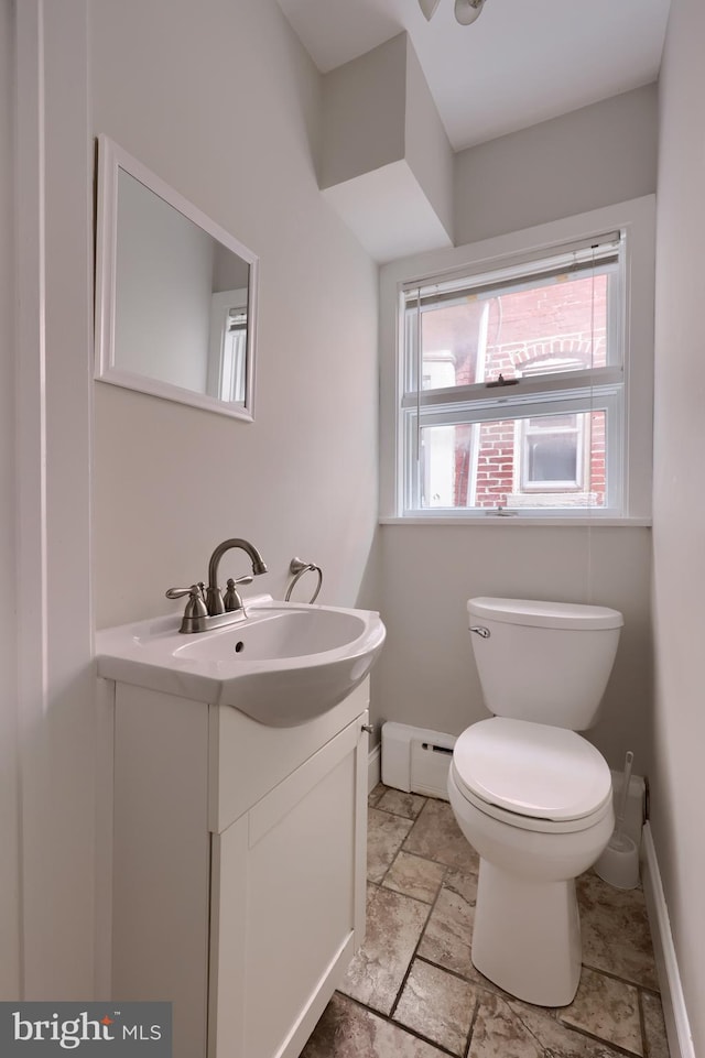
<svg viewBox="0 0 705 1058"><path fill-rule="evenodd" d="M415 959L393 1017L462 1058L476 1001L467 981Z"/></svg>

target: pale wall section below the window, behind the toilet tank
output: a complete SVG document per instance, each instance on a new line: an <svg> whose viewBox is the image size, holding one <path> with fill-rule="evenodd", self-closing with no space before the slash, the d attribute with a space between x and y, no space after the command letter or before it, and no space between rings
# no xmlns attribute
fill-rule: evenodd
<svg viewBox="0 0 705 1058"><path fill-rule="evenodd" d="M603 716L590 740L614 767L652 739L648 528L384 525L380 568L388 640L376 720L459 734L488 716L473 659L473 596L595 602L625 614Z"/></svg>

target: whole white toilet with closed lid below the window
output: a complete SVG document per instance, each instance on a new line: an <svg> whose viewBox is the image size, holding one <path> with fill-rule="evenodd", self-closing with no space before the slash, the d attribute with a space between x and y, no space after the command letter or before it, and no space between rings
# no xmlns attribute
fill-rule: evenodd
<svg viewBox="0 0 705 1058"><path fill-rule="evenodd" d="M581 977L575 879L615 825L607 762L576 731L597 720L623 619L523 599L467 609L494 713L460 734L448 773L453 811L480 857L473 962L518 999L564 1006Z"/></svg>

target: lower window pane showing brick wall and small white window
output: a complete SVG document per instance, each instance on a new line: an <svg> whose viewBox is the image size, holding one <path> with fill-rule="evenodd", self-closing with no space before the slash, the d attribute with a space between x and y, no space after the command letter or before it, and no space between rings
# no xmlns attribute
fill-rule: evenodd
<svg viewBox="0 0 705 1058"><path fill-rule="evenodd" d="M604 508L605 422L600 410L424 426L420 506Z"/></svg>

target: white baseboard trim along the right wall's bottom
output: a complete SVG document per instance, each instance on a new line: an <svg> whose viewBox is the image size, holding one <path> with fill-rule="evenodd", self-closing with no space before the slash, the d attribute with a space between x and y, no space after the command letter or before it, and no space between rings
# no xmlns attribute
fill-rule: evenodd
<svg viewBox="0 0 705 1058"><path fill-rule="evenodd" d="M643 891L661 984L661 1002L663 1003L663 1016L671 1058L695 1058L693 1036L691 1035L691 1025L671 934L669 908L663 894L657 850L648 821L643 828L641 857Z"/></svg>

